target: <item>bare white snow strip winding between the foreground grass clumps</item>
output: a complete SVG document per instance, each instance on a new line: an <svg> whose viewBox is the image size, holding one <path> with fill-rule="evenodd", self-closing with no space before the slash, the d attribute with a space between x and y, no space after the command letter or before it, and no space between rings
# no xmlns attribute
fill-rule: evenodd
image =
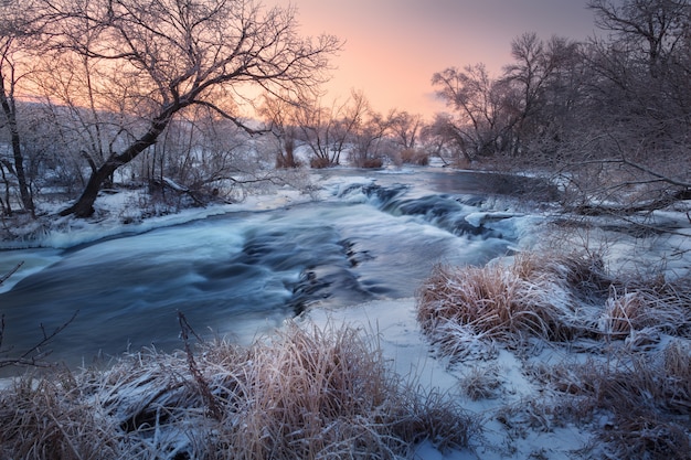
<svg viewBox="0 0 691 460"><path fill-rule="evenodd" d="M424 387L436 387L443 393L463 398L467 410L483 420L483 434L471 449L440 452L425 442L417 448L416 460L588 458L576 453L592 439L587 429L570 425L542 431L528 429L527 425L527 431L518 436L497 421L499 410L533 399L539 391L525 378L524 363L508 350L500 350L496 359L471 361L464 365L449 365L447 360L434 357L415 320L415 299L379 301L338 311L312 309L304 321L322 327L344 323L379 336L384 355L401 376L412 378ZM471 370L499 370L501 383L500 388L495 391L495 397L471 400L463 394L459 382Z"/></svg>

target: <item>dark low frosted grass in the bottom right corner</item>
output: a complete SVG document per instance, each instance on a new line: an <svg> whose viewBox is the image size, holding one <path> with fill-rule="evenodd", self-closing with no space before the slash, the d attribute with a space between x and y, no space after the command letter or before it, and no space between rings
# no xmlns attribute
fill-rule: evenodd
<svg viewBox="0 0 691 460"><path fill-rule="evenodd" d="M546 375L546 374L545 374ZM623 354L609 362L561 365L552 386L583 414L608 414L597 437L617 459L691 458L691 347L670 343L661 356Z"/></svg>

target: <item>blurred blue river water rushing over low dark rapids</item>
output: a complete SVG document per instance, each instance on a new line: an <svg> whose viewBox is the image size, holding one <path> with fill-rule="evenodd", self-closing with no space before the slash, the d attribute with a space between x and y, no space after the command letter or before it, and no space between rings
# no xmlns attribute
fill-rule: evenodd
<svg viewBox="0 0 691 460"><path fill-rule="evenodd" d="M3 349L25 350L77 311L52 361L181 347L178 311L201 335L247 342L306 308L410 298L437 263L509 253L528 218L495 208L507 183L488 175L358 173L329 172L323 201L0 252L6 266L35 267L0 293Z"/></svg>

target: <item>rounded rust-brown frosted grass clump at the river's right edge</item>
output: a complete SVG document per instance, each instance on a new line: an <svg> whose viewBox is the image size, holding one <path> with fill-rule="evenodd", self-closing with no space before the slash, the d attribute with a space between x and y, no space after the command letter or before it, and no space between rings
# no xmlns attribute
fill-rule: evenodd
<svg viewBox="0 0 691 460"><path fill-rule="evenodd" d="M525 277L528 264L519 260L512 267L437 266L418 295L417 319L422 329L435 342L454 341L453 336L438 336L453 332L444 325L449 321L492 340L521 335L571 338L575 332L570 320L575 312L567 301L562 301L567 292L546 277Z"/></svg>

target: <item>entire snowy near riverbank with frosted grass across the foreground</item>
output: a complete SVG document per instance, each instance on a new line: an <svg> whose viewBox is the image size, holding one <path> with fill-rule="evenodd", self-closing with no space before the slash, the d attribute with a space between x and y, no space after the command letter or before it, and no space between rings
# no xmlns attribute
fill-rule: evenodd
<svg viewBox="0 0 691 460"><path fill-rule="evenodd" d="M0 457L689 458L688 286L615 276L589 256L444 272L454 282L437 307L472 291L514 310L418 329L428 281L417 299L309 310L251 346L25 376L0 393ZM478 280L491 286L474 291Z"/></svg>

